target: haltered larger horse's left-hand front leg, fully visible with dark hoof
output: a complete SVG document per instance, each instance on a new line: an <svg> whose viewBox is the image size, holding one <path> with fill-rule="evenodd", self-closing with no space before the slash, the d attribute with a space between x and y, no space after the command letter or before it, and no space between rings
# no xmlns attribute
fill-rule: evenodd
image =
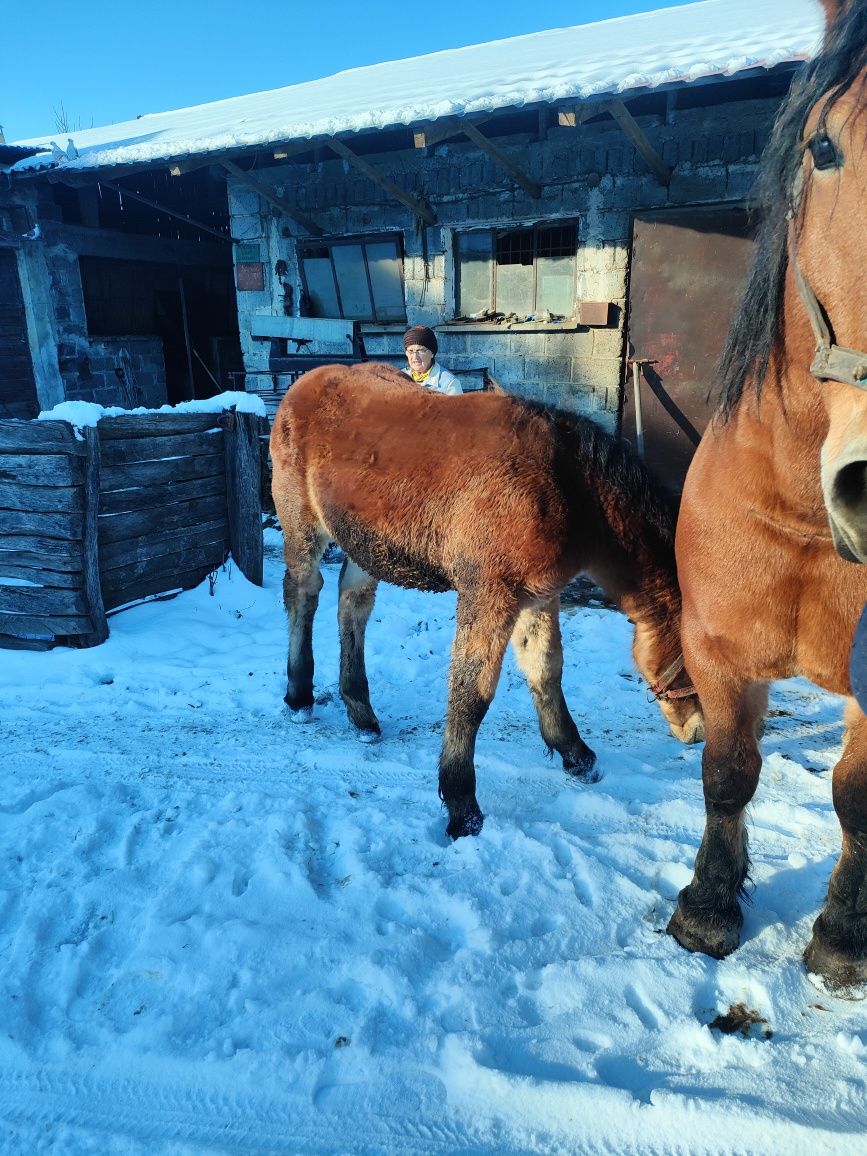
<svg viewBox="0 0 867 1156"><path fill-rule="evenodd" d="M677 896L668 932L688 950L721 959L738 947L743 922L738 902L749 869L743 812L762 769L757 731L768 688L699 681L698 664L689 669L707 734L702 757L706 823L692 882Z"/></svg>

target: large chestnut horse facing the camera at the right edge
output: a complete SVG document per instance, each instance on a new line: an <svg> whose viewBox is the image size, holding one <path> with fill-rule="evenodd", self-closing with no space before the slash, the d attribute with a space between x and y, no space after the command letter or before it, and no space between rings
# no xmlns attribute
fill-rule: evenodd
<svg viewBox="0 0 867 1156"><path fill-rule="evenodd" d="M722 356L722 406L677 527L683 653L707 732L706 828L668 929L717 957L740 938L743 810L762 765L768 683L800 674L849 696L867 600L867 571L843 561L862 553L858 528L832 514L829 533L821 477L840 496L864 489L864 461L828 479L846 432L867 428L857 385L867 354L852 354L867 349L867 3L825 8L822 51L794 82L763 157L763 224ZM805 953L840 988L867 979L867 720L853 699L846 721L832 779L843 850Z"/></svg>

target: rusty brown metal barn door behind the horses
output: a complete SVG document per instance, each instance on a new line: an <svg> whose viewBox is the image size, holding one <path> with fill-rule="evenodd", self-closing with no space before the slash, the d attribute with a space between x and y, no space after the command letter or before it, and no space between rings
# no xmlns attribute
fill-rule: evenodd
<svg viewBox="0 0 867 1156"><path fill-rule="evenodd" d="M644 362L644 457L679 492L713 410L713 368L751 255L743 209L642 214L633 222L628 355ZM636 443L631 364L622 431Z"/></svg>

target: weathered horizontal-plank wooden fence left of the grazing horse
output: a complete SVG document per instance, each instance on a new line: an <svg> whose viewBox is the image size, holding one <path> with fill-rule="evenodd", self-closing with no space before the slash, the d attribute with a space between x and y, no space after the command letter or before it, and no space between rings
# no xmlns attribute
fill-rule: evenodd
<svg viewBox="0 0 867 1156"><path fill-rule="evenodd" d="M229 553L261 585L264 428L235 410L0 421L0 646L95 646L109 612Z"/></svg>

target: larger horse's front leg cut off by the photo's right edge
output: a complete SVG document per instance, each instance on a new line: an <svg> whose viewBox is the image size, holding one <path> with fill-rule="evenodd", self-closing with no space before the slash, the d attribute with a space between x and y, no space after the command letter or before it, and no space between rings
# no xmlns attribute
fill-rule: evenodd
<svg viewBox="0 0 867 1156"><path fill-rule="evenodd" d="M867 983L867 719L858 713L847 718L849 742L833 769L843 850L803 954L807 969L833 987Z"/></svg>

